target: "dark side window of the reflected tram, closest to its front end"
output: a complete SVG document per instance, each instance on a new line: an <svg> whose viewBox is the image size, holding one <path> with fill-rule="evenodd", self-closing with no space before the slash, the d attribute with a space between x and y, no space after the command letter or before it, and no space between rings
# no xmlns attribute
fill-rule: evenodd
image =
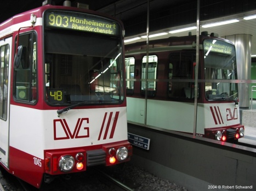
<svg viewBox="0 0 256 191"><path fill-rule="evenodd" d="M169 98L193 99L195 97L194 83L187 82L193 77L195 59L195 53L188 52L172 53L169 56Z"/></svg>

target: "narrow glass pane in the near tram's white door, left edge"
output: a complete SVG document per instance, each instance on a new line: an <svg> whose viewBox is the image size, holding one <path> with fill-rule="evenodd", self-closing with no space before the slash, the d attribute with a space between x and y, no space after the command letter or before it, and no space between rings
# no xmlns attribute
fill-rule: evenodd
<svg viewBox="0 0 256 191"><path fill-rule="evenodd" d="M1 68L0 68L0 118L7 119L7 99L8 99L8 67L10 46L3 45L0 47Z"/></svg>

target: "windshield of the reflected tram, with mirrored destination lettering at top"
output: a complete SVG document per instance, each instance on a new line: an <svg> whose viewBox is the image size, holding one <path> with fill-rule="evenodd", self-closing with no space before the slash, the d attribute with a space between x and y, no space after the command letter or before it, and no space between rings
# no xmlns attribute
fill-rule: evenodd
<svg viewBox="0 0 256 191"><path fill-rule="evenodd" d="M203 51L206 98L238 99L238 86L232 81L237 79L235 46L226 41L205 39Z"/></svg>

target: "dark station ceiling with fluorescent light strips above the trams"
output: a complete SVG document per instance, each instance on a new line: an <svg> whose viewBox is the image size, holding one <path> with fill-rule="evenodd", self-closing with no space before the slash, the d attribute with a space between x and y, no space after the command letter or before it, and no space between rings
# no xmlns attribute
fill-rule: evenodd
<svg viewBox="0 0 256 191"><path fill-rule="evenodd" d="M62 5L63 0L52 0L56 5ZM117 17L124 23L126 39L146 34L147 10L149 5L149 32L169 32L181 26L196 25L197 0L71 0L72 5L86 3L89 9L100 11ZM33 9L42 5L42 0L9 0L3 1L0 6L0 23L15 14ZM256 1L244 0L201 0L201 23L217 22L236 18L240 22L203 29L219 34L219 37L234 34L252 35L252 55L256 55L256 19L243 20L245 15L256 14ZM196 30L191 31L196 34ZM187 35L188 32L167 34L162 38ZM159 37L158 37L159 38ZM152 38L153 39L153 38ZM145 40L145 39L144 39Z"/></svg>

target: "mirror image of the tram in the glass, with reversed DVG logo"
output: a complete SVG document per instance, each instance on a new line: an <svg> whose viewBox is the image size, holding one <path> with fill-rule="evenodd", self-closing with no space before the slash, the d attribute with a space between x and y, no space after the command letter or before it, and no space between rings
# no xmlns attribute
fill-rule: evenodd
<svg viewBox="0 0 256 191"><path fill-rule="evenodd" d="M196 36L128 44L127 118L146 127L194 133ZM235 46L202 33L196 135L221 141L244 136L238 108ZM145 102L145 97L146 102Z"/></svg>

